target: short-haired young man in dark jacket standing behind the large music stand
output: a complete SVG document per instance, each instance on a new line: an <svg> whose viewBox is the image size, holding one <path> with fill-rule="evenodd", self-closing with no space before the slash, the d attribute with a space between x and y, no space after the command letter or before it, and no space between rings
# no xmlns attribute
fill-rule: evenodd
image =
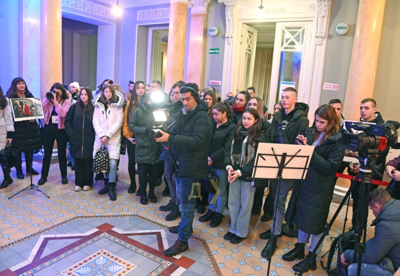
<svg viewBox="0 0 400 276"><path fill-rule="evenodd" d="M293 144L298 134L302 133L308 128L308 105L302 102L297 102L297 91L292 87L284 88L281 95L282 108L279 112L272 114L271 126L266 132L266 140L268 143L284 143L284 139L280 139L277 135L278 132L284 131L287 137L286 143ZM275 134L276 133L276 134ZM269 175L268 175L269 176ZM276 198L277 180L269 181L269 194L274 200ZM281 180L279 194L277 196L277 211L276 211L276 224L273 238L271 237L271 230L267 230L260 234L260 238L268 239L265 245L265 252L269 252L270 246L275 250L278 235L281 235L280 230L284 218L285 202L287 194L289 193L291 181ZM265 199L266 200L266 199ZM263 251L264 251L263 250Z"/></svg>

